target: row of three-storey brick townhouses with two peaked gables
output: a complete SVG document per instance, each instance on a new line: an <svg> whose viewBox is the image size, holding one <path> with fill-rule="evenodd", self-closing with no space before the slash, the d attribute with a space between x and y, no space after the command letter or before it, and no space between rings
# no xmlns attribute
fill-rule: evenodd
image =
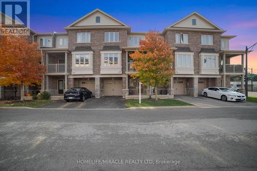
<svg viewBox="0 0 257 171"><path fill-rule="evenodd" d="M33 34L46 65L41 90L58 96L70 87L86 87L96 98L138 97L139 82L130 77L136 71L129 54L138 49L146 32L133 32L99 9L64 29L65 33ZM244 51L229 50L229 40L235 36L224 32L196 12L163 29L160 36L174 51L175 74L168 87L158 87L160 98L196 97L206 87L230 86L230 75L244 78ZM230 59L238 55L242 63L230 65ZM142 86L141 93L148 97L155 90Z"/></svg>

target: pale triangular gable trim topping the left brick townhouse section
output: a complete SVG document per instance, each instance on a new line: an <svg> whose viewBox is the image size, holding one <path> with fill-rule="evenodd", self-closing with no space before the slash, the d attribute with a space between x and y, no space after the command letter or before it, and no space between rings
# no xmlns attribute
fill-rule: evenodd
<svg viewBox="0 0 257 171"><path fill-rule="evenodd" d="M124 23L120 22L119 20L117 20L117 19L114 18L113 16L111 16L111 15L109 15L109 14L107 14L107 13L105 13L105 12L103 12L102 10L100 10L100 9L97 8L97 9L95 9L94 11L91 11L91 12L89 12L88 14L82 16L81 18L79 18L79 20L77 20L77 21L75 21L74 23L70 24L70 25L67 26L66 28L68 28L68 27L74 27L76 24L82 22L83 20L85 20L86 18L88 18L89 16L91 16L91 15L97 13L97 12L99 12L99 13L101 13L101 14L107 16L108 18L111 18L111 20L113 20L114 22L117 23L117 26L128 27L127 25L125 25ZM103 26L103 25L99 25L99 26ZM99 26L98 26L98 27L99 27Z"/></svg>

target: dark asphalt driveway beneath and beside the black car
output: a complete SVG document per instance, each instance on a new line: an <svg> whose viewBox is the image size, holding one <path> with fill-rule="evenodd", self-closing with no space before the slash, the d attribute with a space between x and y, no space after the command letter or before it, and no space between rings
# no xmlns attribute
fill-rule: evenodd
<svg viewBox="0 0 257 171"><path fill-rule="evenodd" d="M101 109L101 108L125 108L125 99L122 97L102 97L99 99L90 98L85 102L72 101L66 102L58 100L54 103L41 106L39 108L76 108L76 109Z"/></svg>

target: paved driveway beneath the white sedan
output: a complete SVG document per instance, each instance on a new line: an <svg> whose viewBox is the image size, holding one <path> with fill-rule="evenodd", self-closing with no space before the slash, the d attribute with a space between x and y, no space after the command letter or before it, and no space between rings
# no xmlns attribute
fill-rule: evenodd
<svg viewBox="0 0 257 171"><path fill-rule="evenodd" d="M219 99L214 98L205 98L203 96L192 97L192 96L183 96L183 95L176 95L175 99L181 100L183 102L191 103L195 106L200 107L234 107L234 106L257 106L256 103L252 102L223 102Z"/></svg>

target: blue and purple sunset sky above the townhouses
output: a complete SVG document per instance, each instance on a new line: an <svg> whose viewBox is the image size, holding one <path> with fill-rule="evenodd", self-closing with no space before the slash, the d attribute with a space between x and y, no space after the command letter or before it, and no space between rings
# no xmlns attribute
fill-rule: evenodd
<svg viewBox="0 0 257 171"><path fill-rule="evenodd" d="M65 32L68 26L88 12L99 8L132 27L132 31L162 31L192 12L208 18L237 35L230 50L244 50L257 42L257 1L35 1L30 0L30 26L36 32ZM257 46L249 54L248 67L257 73ZM232 59L241 63L240 57Z"/></svg>

